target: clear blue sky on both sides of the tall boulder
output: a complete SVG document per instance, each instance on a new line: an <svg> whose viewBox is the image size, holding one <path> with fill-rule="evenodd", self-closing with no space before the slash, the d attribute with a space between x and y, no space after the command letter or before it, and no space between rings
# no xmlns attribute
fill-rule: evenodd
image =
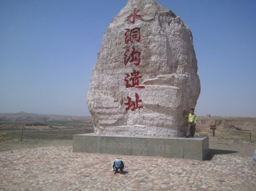
<svg viewBox="0 0 256 191"><path fill-rule="evenodd" d="M193 34L197 116L256 117L256 1L158 0ZM0 0L0 113L89 116L104 31L126 0Z"/></svg>

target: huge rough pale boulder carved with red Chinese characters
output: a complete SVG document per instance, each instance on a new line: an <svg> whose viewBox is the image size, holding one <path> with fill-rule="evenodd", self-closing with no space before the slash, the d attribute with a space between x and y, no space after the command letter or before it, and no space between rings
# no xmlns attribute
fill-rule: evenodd
<svg viewBox="0 0 256 191"><path fill-rule="evenodd" d="M183 136L200 94L192 33L153 0L130 0L109 24L87 104L98 135Z"/></svg>

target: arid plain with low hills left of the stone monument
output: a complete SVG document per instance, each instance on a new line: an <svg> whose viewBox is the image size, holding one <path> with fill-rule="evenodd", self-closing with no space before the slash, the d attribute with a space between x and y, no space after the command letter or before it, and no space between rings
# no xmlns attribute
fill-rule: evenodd
<svg viewBox="0 0 256 191"><path fill-rule="evenodd" d="M72 146L73 135L92 132L91 117L0 113L0 151Z"/></svg>

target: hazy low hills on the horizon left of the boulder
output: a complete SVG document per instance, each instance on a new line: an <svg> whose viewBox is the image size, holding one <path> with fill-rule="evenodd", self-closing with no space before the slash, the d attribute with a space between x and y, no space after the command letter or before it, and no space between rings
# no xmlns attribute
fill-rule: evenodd
<svg viewBox="0 0 256 191"><path fill-rule="evenodd" d="M91 117L60 116L57 114L0 113L0 121L90 121Z"/></svg>

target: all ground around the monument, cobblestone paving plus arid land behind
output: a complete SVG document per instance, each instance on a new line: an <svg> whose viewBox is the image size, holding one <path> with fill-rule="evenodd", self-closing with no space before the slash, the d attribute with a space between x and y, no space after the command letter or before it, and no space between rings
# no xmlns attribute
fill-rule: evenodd
<svg viewBox="0 0 256 191"><path fill-rule="evenodd" d="M12 120L5 117L0 122L3 172L0 190L240 191L255 188L254 118L199 117L195 136L209 137L210 154L195 162L158 156L73 152L73 134L94 131L90 117L44 116L42 120L39 115L31 121L27 118L29 113L15 115ZM210 125L216 125L214 137ZM111 165L115 157L125 160L125 173L113 174Z"/></svg>

